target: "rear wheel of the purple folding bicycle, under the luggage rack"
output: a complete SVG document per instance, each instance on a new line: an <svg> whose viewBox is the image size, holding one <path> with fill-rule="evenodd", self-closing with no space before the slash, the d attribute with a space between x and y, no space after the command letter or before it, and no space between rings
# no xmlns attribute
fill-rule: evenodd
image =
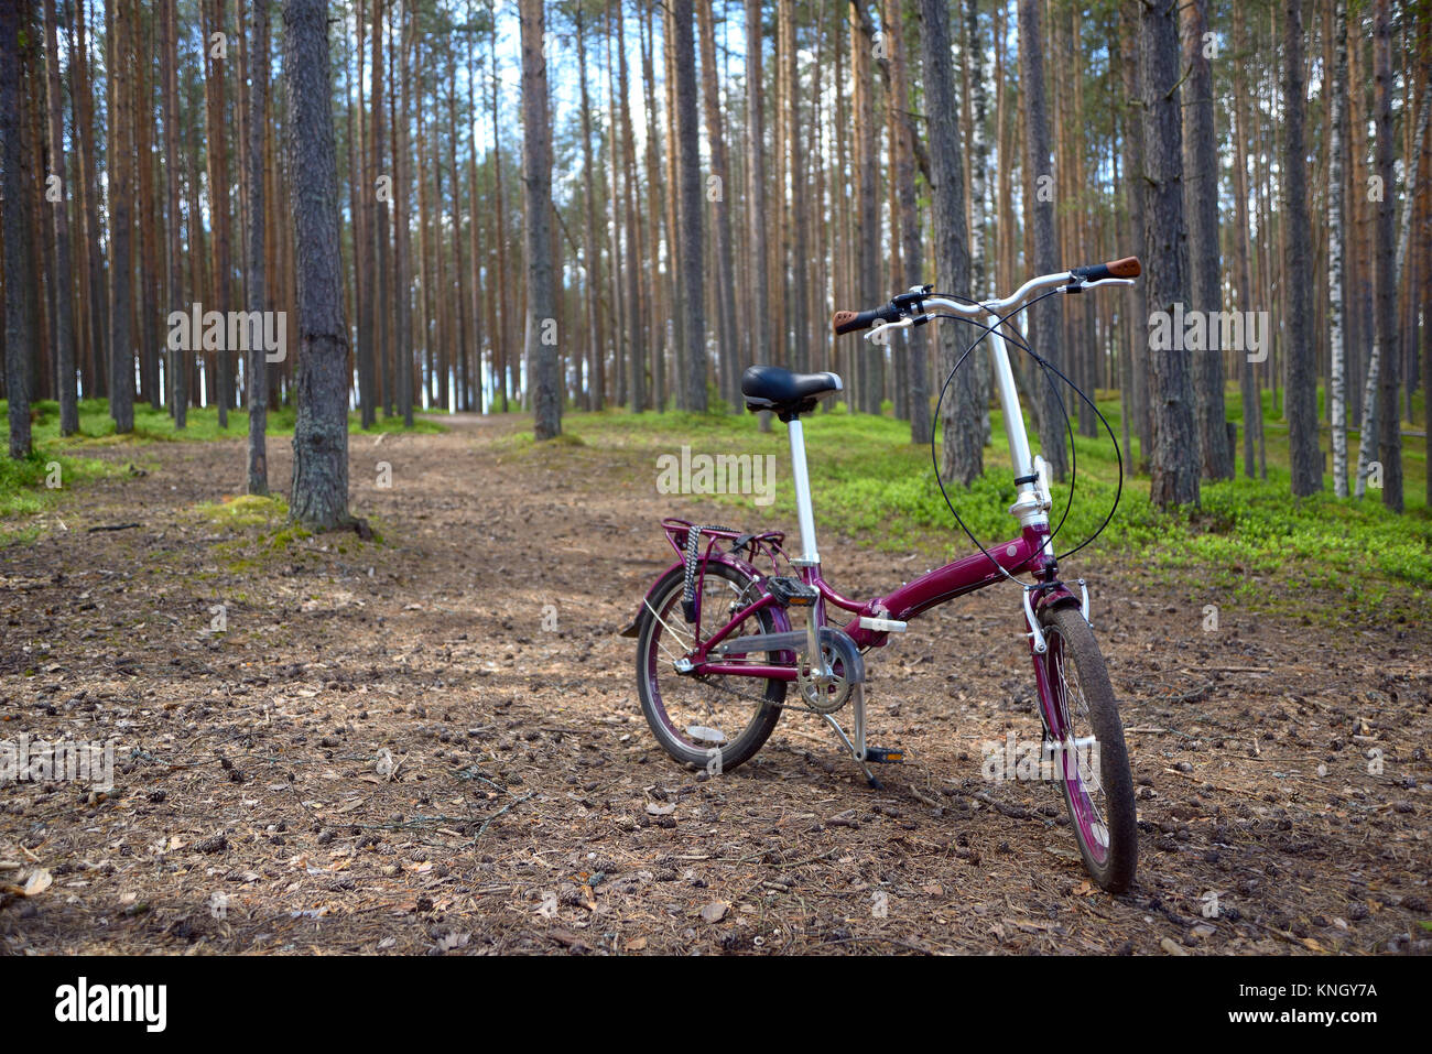
<svg viewBox="0 0 1432 1054"><path fill-rule="evenodd" d="M684 584L683 569L673 567L652 590L652 607L642 606L636 637L637 696L642 700L646 723L652 727L652 735L656 736L656 742L662 745L663 750L683 765L696 765L707 772L725 772L749 760L770 738L780 720L780 703L786 699L786 682L762 682L755 677L713 677L703 682L677 673L673 660L680 657L686 647L676 643L673 634L689 640L690 634L699 629L700 637L705 640L735 614L730 611L730 601L750 603L759 596L756 579L727 564L707 564L700 626L697 627L689 624L682 614ZM725 597L730 600L723 603ZM652 609L662 617L657 619ZM770 609L762 609L739 626L733 636L773 633L775 630L776 624ZM779 653L768 653L759 660L778 663ZM740 692L742 696L723 692L717 683ZM765 703L749 699L749 696L758 695L765 699ZM748 715L749 719L740 725L737 735L725 738L725 742L715 738L697 739L683 735L680 723L684 716L672 713L674 707L670 703L674 696L680 696L683 700L683 712L699 713L705 709L707 715L720 713L730 722L732 727L736 727ZM689 732L692 727L696 726L686 726L686 730ZM702 726L702 732L710 733L716 727L716 725ZM720 735L725 736L725 733Z"/></svg>

